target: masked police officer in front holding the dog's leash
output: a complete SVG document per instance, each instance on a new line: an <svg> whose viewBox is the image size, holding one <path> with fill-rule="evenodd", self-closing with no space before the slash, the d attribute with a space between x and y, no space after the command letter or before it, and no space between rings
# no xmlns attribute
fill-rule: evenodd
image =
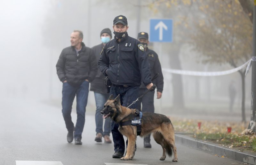
<svg viewBox="0 0 256 165"><path fill-rule="evenodd" d="M128 36L126 17L115 17L113 29L115 37L102 49L98 65L100 71L112 82L110 94L114 97L120 94L121 105L127 107L138 98L141 80L147 89L150 89L153 83L144 46L140 41ZM136 105L132 104L129 108L135 109ZM124 138L118 127L117 123L111 123L115 148L113 158L124 156Z"/></svg>

